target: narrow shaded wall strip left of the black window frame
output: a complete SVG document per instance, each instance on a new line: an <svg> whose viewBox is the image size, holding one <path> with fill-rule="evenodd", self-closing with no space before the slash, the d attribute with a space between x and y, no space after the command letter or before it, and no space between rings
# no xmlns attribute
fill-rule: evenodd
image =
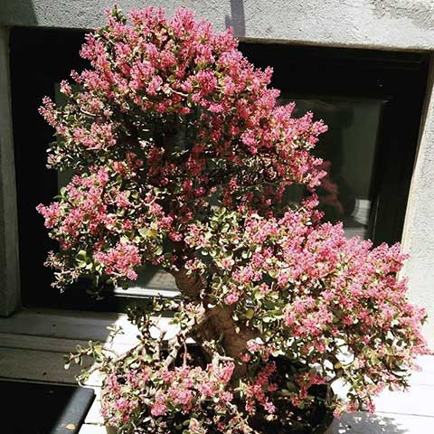
<svg viewBox="0 0 434 434"><path fill-rule="evenodd" d="M19 303L18 223L9 92L8 31L0 27L0 315Z"/></svg>

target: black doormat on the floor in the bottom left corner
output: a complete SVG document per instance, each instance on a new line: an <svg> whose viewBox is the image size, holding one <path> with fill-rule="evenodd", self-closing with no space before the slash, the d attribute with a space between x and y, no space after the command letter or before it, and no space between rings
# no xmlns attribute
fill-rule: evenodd
<svg viewBox="0 0 434 434"><path fill-rule="evenodd" d="M8 434L73 434L95 399L93 389L36 382L0 381L2 420Z"/></svg>

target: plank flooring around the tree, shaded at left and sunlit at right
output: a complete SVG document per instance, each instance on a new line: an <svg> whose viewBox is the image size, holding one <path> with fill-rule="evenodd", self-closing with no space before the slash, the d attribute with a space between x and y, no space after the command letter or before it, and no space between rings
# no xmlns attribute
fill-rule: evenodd
<svg viewBox="0 0 434 434"><path fill-rule="evenodd" d="M126 334L113 347L120 350L134 344L136 329L118 314L43 309L0 318L0 378L74 383L78 370L65 371L62 354L89 339L104 342L107 326L114 322L123 325ZM411 377L409 392L383 392L374 415L345 415L334 421L329 434L434 434L434 356L421 357L420 366L421 371ZM98 396L99 381L90 380ZM97 399L80 434L108 432Z"/></svg>

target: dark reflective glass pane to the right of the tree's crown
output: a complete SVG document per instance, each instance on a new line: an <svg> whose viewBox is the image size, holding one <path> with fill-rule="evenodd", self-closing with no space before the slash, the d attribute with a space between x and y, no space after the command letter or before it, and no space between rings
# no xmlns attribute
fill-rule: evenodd
<svg viewBox="0 0 434 434"><path fill-rule="evenodd" d="M368 238L371 183L377 148L382 99L291 98L296 117L312 111L322 118L328 131L319 137L314 154L324 160L328 175L317 189L324 220L344 222L345 235Z"/></svg>

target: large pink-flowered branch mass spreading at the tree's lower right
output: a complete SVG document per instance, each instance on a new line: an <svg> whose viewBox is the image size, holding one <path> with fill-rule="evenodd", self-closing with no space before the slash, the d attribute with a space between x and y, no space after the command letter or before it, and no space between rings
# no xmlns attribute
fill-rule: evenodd
<svg viewBox="0 0 434 434"><path fill-rule="evenodd" d="M409 303L405 279L396 278L406 258L399 244L347 240L342 224L315 218L306 209L272 218L221 208L190 234L192 246L201 244L194 268L212 270L213 303L234 307L239 322L258 330L266 344L248 342L251 353L315 366L314 377L296 381L293 404L306 403L311 385L341 379L363 409L386 385L406 386L397 373L427 351L425 311ZM241 360L249 362L249 354Z"/></svg>

